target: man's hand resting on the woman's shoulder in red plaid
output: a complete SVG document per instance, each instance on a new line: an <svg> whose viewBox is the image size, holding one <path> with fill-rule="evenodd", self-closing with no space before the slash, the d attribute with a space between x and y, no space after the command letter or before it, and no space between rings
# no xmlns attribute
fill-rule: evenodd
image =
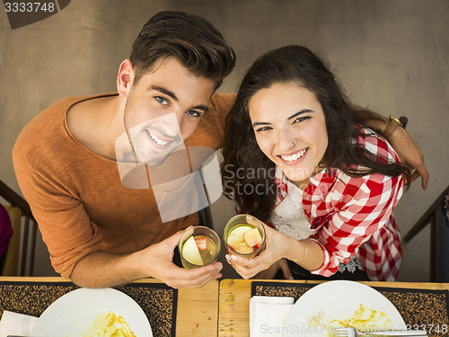
<svg viewBox="0 0 449 337"><path fill-rule="evenodd" d="M392 143L401 160L415 169L412 173L411 181L414 182L418 179L418 176L421 176L422 188L426 190L428 172L424 164L424 155L415 140L402 128L395 129L388 140Z"/></svg>

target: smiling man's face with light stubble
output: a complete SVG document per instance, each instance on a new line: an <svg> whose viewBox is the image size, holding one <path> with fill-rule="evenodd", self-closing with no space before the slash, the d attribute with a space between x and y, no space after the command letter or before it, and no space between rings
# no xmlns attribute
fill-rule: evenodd
<svg viewBox="0 0 449 337"><path fill-rule="evenodd" d="M133 84L125 106L125 129L139 162L163 163L191 136L214 81L189 73L176 58L161 58Z"/></svg>

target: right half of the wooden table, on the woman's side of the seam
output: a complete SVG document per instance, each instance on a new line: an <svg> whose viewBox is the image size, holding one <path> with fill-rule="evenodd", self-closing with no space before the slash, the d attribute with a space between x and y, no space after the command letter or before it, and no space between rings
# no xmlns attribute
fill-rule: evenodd
<svg viewBox="0 0 449 337"><path fill-rule="evenodd" d="M263 279L263 281L268 281ZM275 281L273 281L275 282ZM312 280L276 280L276 282L317 284L322 281ZM250 335L250 298L251 283L249 279L223 279L220 282L218 336L248 337ZM417 288L449 290L449 283L415 283L415 282L360 282L370 287L383 288Z"/></svg>

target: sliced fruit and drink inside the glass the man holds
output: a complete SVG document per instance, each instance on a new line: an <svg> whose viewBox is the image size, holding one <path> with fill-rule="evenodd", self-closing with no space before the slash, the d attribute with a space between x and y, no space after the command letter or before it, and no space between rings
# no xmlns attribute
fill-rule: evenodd
<svg viewBox="0 0 449 337"><path fill-rule="evenodd" d="M182 245L181 254L189 263L209 264L216 258L216 243L207 235L191 235Z"/></svg>

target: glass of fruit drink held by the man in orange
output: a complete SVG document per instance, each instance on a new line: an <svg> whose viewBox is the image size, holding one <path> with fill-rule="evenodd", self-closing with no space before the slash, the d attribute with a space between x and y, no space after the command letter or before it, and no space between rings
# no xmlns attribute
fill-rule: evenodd
<svg viewBox="0 0 449 337"><path fill-rule="evenodd" d="M178 244L180 262L187 269L215 263L220 249L220 238L206 226L194 226L193 230L186 231Z"/></svg>

